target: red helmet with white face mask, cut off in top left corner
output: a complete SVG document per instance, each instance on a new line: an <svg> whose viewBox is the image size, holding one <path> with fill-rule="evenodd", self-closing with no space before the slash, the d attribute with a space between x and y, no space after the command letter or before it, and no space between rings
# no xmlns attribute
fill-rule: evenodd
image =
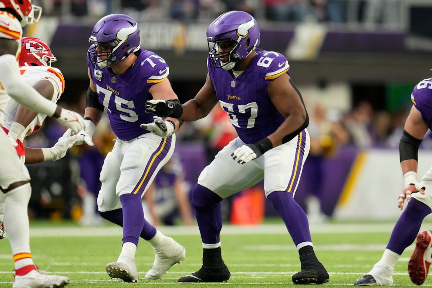
<svg viewBox="0 0 432 288"><path fill-rule="evenodd" d="M41 6L33 5L32 0L0 0L0 9L6 8L12 10L21 22L21 26L24 27L26 24L35 24L41 18L42 8Z"/></svg>

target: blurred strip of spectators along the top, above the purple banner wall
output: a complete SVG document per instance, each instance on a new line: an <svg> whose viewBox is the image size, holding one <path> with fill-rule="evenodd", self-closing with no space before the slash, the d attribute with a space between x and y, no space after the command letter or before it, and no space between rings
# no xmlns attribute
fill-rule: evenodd
<svg viewBox="0 0 432 288"><path fill-rule="evenodd" d="M358 22L400 25L401 0L40 0L45 16L125 13L137 21L209 22L229 10L258 21Z"/></svg>

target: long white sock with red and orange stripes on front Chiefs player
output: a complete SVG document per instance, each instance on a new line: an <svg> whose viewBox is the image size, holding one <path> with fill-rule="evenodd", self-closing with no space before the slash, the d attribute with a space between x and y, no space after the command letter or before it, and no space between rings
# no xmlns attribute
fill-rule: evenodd
<svg viewBox="0 0 432 288"><path fill-rule="evenodd" d="M32 265L30 253L29 205L32 188L24 184L5 194L4 227L9 237L10 246L15 260L15 269Z"/></svg>

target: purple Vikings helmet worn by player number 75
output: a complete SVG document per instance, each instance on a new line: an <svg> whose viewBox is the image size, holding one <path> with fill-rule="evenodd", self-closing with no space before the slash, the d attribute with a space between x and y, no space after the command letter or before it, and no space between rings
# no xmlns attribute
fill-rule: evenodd
<svg viewBox="0 0 432 288"><path fill-rule="evenodd" d="M96 23L89 42L90 62L95 69L103 69L140 49L140 26L127 15L111 14ZM96 51L99 45L102 49Z"/></svg>

